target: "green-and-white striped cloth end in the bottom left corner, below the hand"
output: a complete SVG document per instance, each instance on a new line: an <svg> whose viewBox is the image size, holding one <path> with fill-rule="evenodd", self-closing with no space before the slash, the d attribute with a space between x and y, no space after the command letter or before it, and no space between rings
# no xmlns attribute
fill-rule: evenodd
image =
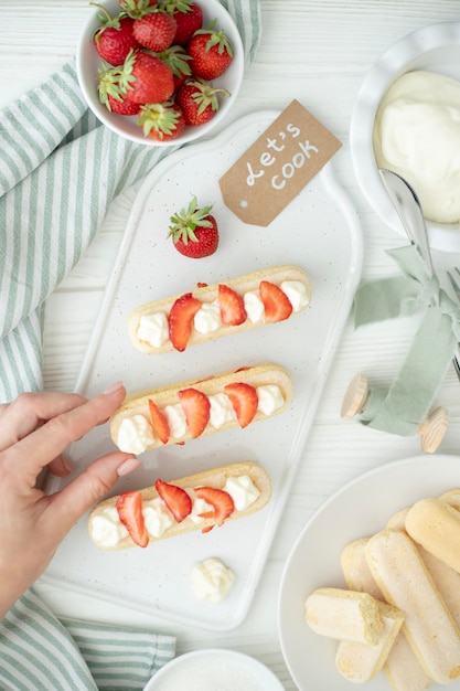
<svg viewBox="0 0 460 691"><path fill-rule="evenodd" d="M175 653L175 638L57 619L31 589L0 624L2 691L141 691Z"/></svg>

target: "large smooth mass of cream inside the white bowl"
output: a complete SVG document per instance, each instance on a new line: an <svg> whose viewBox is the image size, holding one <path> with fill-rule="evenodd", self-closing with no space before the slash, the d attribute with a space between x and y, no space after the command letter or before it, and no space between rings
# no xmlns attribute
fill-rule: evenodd
<svg viewBox="0 0 460 691"><path fill-rule="evenodd" d="M460 82L422 70L400 76L378 106L373 146L377 166L407 180L427 219L460 220Z"/></svg>

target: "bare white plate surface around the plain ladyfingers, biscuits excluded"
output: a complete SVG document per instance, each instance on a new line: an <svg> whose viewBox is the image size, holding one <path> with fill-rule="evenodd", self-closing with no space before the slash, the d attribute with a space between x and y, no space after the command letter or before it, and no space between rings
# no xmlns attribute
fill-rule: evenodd
<svg viewBox="0 0 460 691"><path fill-rule="evenodd" d="M335 669L336 641L318 636L304 620L306 599L315 588L346 587L340 566L343 548L383 530L394 513L418 499L458 487L459 457L416 456L360 476L312 515L290 552L278 598L281 650L299 691L352 688ZM384 672L365 688L391 690ZM452 688L459 689L459 684ZM441 687L434 683L430 689Z"/></svg>

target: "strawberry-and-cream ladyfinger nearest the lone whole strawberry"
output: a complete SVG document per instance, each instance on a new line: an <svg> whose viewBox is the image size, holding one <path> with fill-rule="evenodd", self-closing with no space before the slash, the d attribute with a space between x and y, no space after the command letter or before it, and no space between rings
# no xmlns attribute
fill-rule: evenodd
<svg viewBox="0 0 460 691"><path fill-rule="evenodd" d="M148 302L128 317L128 334L145 353L184 351L194 343L282 321L310 305L311 287L298 266L274 266Z"/></svg>

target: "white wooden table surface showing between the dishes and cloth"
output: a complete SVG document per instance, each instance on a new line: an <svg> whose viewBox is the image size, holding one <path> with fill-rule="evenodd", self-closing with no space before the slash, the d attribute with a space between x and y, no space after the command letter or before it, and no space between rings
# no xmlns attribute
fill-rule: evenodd
<svg viewBox="0 0 460 691"><path fill-rule="evenodd" d="M0 107L36 86L74 54L87 12L86 0L0 0ZM282 109L292 98L312 110L344 143L339 176L363 225L364 278L394 273L385 249L399 246L402 238L373 212L356 183L347 151L352 109L360 85L378 56L415 29L459 21L458 0L261 0L261 45L245 76L232 119L257 109ZM47 390L68 391L75 385L135 192L130 190L114 203L93 246L49 300ZM345 328L258 592L247 619L237 629L216 635L178 627L41 585L43 597L56 613L173 632L178 652L214 646L245 651L270 667L286 689L296 689L277 634L282 567L296 536L332 492L363 471L420 453L417 437L392 436L340 418L352 376L361 371L377 384L389 385L413 331L410 319L357 331L349 322ZM439 453L458 454L460 384L453 369L439 391L438 403L450 412Z"/></svg>

